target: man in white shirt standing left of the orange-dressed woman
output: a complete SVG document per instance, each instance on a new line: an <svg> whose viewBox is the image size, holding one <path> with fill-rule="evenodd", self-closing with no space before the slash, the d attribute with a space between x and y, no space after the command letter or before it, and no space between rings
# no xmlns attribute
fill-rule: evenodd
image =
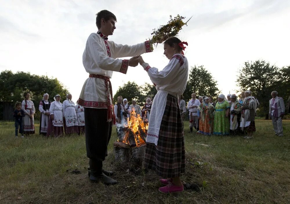
<svg viewBox="0 0 290 204"><path fill-rule="evenodd" d="M194 122L196 131L198 128L198 116L197 116L197 107L200 105L200 101L196 99L196 93L191 94L191 100L187 103L187 109L189 109L189 129L190 133L193 131Z"/></svg>

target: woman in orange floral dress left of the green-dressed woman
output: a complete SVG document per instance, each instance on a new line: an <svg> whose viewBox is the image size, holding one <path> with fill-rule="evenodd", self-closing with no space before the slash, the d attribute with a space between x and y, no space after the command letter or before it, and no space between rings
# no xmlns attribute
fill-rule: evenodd
<svg viewBox="0 0 290 204"><path fill-rule="evenodd" d="M197 133L211 135L213 132L213 121L215 107L209 103L209 98L205 97L204 102L197 107L199 120L199 131Z"/></svg>

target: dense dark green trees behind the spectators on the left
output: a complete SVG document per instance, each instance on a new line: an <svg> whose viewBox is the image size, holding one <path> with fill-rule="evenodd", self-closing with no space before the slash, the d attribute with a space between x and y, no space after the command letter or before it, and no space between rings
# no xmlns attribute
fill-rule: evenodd
<svg viewBox="0 0 290 204"><path fill-rule="evenodd" d="M36 110L38 110L39 101L42 100L44 93L49 94L50 101L53 101L56 94L65 99L68 93L68 90L57 79L32 75L29 72L16 72L14 74L10 70L1 72L0 87L1 101L22 101L24 99L23 93L30 90Z"/></svg>

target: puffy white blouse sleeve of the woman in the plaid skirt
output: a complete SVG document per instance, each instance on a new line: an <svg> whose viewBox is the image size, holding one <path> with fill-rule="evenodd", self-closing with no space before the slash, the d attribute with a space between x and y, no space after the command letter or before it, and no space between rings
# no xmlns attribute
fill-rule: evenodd
<svg viewBox="0 0 290 204"><path fill-rule="evenodd" d="M176 75L180 73L180 69L184 64L183 57L180 54L175 54L168 65L163 70L158 71L155 67L147 65L144 70L148 72L148 75L153 83L159 86L166 85L175 79Z"/></svg>

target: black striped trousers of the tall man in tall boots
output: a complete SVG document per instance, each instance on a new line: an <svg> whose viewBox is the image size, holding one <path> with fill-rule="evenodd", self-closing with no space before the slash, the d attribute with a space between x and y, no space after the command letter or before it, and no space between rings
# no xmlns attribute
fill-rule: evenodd
<svg viewBox="0 0 290 204"><path fill-rule="evenodd" d="M112 134L113 122L107 122L106 108L84 108L87 157L104 161Z"/></svg>

